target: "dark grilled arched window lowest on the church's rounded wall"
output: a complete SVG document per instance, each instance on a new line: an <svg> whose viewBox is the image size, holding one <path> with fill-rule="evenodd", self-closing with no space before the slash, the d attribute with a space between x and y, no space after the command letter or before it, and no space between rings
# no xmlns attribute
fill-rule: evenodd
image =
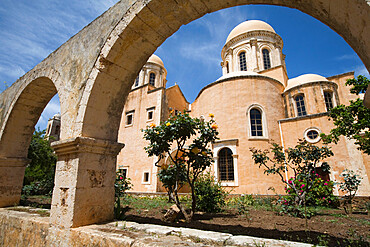
<svg viewBox="0 0 370 247"><path fill-rule="evenodd" d="M233 152L230 148L223 148L218 153L219 179L220 181L234 181Z"/></svg>

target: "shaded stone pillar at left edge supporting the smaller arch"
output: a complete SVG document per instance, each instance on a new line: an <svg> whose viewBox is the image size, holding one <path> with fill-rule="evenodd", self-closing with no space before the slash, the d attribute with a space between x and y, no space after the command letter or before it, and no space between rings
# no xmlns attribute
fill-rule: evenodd
<svg viewBox="0 0 370 247"><path fill-rule="evenodd" d="M0 207L19 203L28 163L26 158L0 158Z"/></svg>

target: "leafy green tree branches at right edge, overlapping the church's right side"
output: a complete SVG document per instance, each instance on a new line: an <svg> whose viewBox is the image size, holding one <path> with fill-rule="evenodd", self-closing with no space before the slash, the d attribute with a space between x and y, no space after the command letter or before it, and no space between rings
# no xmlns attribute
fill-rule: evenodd
<svg viewBox="0 0 370 247"><path fill-rule="evenodd" d="M365 93L369 80L359 75L357 79L349 79L347 86L352 86L350 92L359 95ZM338 143L340 136L355 140L359 150L370 155L370 109L366 108L363 100L351 100L348 106L338 105L330 110L329 119L333 120L334 129L330 134L321 134L324 143Z"/></svg>

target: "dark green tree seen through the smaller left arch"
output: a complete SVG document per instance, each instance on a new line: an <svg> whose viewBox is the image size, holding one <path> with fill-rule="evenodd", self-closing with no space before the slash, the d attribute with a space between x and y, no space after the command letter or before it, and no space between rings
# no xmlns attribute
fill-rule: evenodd
<svg viewBox="0 0 370 247"><path fill-rule="evenodd" d="M27 158L31 162L26 167L24 185L45 180L51 180L53 183L57 157L50 147L49 140L45 138L45 130L36 130L33 133Z"/></svg>

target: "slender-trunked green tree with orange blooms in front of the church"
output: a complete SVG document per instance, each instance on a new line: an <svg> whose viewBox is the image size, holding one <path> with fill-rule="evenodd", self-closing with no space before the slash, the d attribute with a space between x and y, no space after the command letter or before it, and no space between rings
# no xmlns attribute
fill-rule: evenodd
<svg viewBox="0 0 370 247"><path fill-rule="evenodd" d="M191 118L188 113L180 113L171 116L159 126L152 124L142 130L144 138L150 142L145 147L150 156L157 156L157 164L166 156L170 159L170 165L162 167L171 169L171 172L163 172L160 180L169 190L169 196L184 214L186 221L191 221L196 210L195 183L200 174L213 162L210 144L217 138L217 125L210 114L211 120L204 121L199 118ZM175 153L171 153L174 148ZM178 191L184 183L183 175L191 189L192 205L190 213L185 211L181 204ZM165 179L164 179L165 177Z"/></svg>

